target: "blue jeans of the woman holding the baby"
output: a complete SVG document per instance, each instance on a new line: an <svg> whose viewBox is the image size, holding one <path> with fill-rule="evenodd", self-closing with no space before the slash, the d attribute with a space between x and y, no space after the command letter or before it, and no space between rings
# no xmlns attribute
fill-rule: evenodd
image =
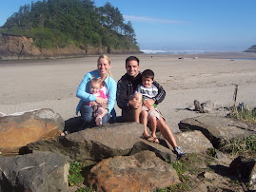
<svg viewBox="0 0 256 192"><path fill-rule="evenodd" d="M93 109L91 106L83 105L80 108L81 117L79 118L79 127L92 127L95 126L95 118L93 117ZM107 124L110 119L110 114L107 113L102 118L102 124Z"/></svg>

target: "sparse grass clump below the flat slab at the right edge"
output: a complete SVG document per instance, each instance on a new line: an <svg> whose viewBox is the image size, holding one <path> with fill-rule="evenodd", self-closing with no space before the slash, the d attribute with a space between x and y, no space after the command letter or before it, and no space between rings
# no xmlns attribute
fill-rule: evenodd
<svg viewBox="0 0 256 192"><path fill-rule="evenodd" d="M244 140L223 139L221 144L221 150L230 153L232 156L256 155L256 137L254 135L251 135Z"/></svg>

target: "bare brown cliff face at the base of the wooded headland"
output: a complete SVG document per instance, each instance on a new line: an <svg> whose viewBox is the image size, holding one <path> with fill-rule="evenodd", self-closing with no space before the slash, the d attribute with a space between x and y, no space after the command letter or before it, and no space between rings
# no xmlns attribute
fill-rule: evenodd
<svg viewBox="0 0 256 192"><path fill-rule="evenodd" d="M102 53L134 53L132 50L92 47L81 49L75 46L46 49L37 48L33 43L31 38L0 34L0 60L62 58Z"/></svg>

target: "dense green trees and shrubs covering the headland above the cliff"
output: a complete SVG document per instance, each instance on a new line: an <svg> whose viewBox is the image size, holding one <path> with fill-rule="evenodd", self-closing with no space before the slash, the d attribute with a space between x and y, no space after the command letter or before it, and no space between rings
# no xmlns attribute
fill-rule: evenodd
<svg viewBox="0 0 256 192"><path fill-rule="evenodd" d="M114 48L139 50L131 23L109 3L90 0L42 0L20 7L0 33L33 38L39 48Z"/></svg>

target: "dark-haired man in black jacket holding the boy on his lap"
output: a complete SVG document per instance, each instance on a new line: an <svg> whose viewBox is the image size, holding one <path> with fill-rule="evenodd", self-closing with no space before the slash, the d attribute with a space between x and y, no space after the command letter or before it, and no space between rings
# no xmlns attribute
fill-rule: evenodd
<svg viewBox="0 0 256 192"><path fill-rule="evenodd" d="M133 93L136 87L142 82L142 74L139 71L140 61L135 56L129 56L126 60L127 73L117 83L116 101L117 106L122 109L122 118L124 122L140 122L139 115L141 112L142 102L133 98ZM158 88L158 94L152 99L148 99L143 103L144 106L152 106L153 104L161 103L166 96L165 89L156 81L153 85ZM162 135L171 144L178 155L178 158L186 155L182 149L177 146L174 135L163 118L157 121L157 127ZM149 135L143 135L148 138Z"/></svg>

